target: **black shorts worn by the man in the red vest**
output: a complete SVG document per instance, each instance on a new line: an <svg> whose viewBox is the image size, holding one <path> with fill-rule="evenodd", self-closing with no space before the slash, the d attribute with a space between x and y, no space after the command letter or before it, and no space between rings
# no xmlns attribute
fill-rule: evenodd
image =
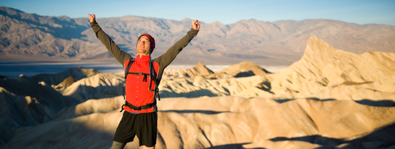
<svg viewBox="0 0 395 149"><path fill-rule="evenodd" d="M154 147L157 144L157 126L157 112L132 114L125 111L115 132L114 141L129 143L137 135L140 147Z"/></svg>

